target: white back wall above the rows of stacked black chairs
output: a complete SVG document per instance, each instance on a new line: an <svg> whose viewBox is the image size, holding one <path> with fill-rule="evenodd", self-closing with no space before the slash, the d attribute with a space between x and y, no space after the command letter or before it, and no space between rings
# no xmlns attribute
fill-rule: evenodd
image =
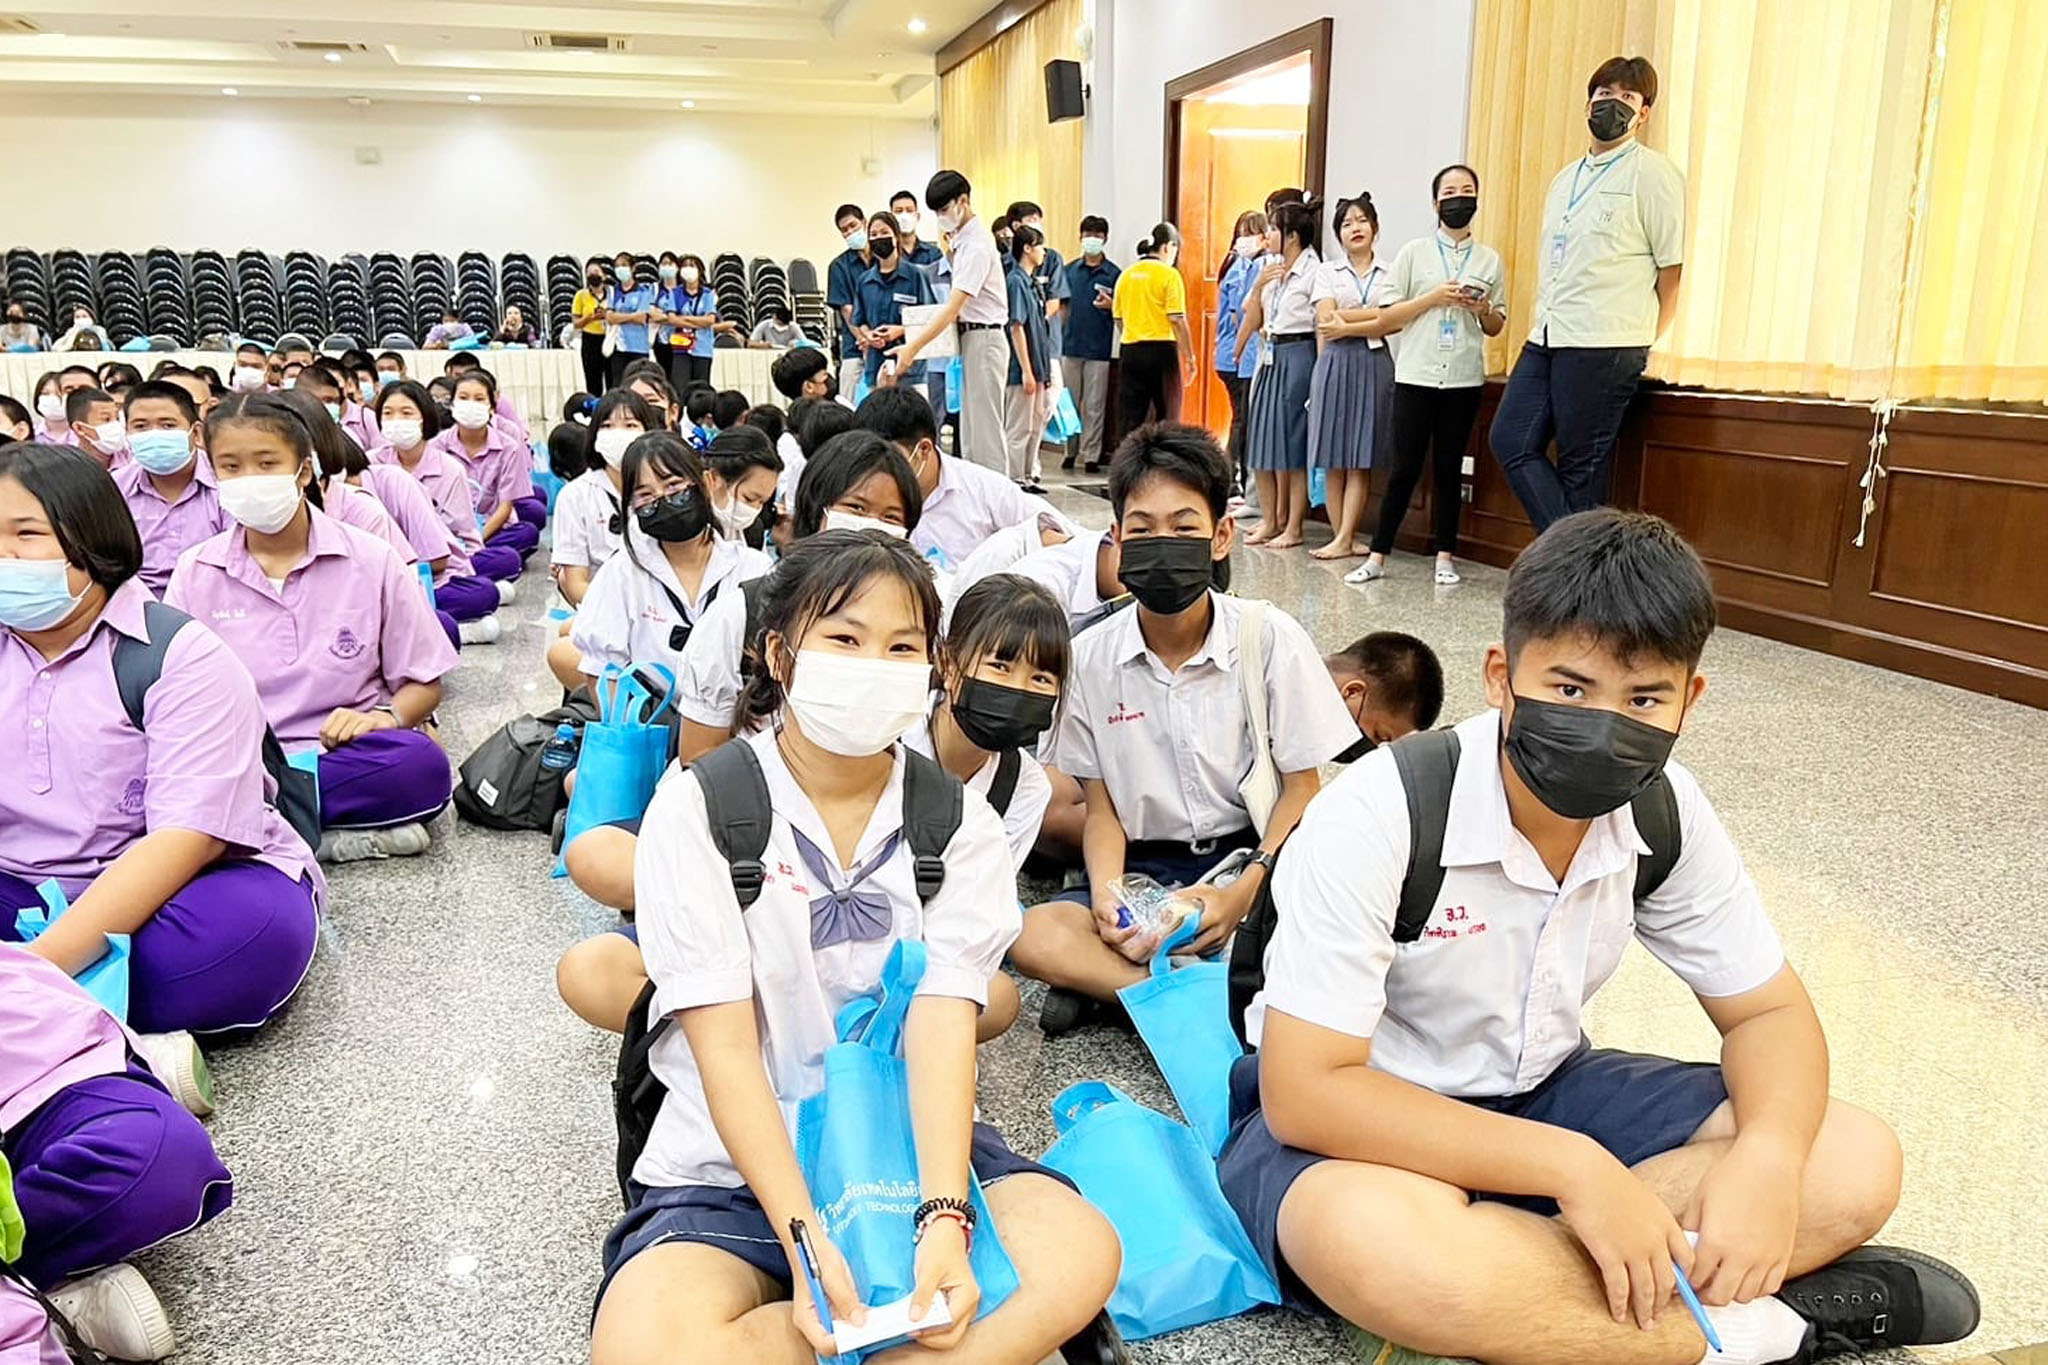
<svg viewBox="0 0 2048 1365"><path fill-rule="evenodd" d="M670 248L819 268L840 250L834 207L922 190L938 156L926 121L225 96L0 96L0 246Z"/></svg>

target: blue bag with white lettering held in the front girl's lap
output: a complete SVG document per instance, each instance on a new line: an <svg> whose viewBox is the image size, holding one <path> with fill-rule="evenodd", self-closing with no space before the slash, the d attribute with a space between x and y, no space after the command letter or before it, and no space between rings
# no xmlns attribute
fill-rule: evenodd
<svg viewBox="0 0 2048 1365"><path fill-rule="evenodd" d="M797 1164L825 1236L846 1257L868 1308L893 1304L918 1287L911 1240L922 1187L909 1121L909 1068L903 1019L924 980L924 943L899 939L883 968L881 1001L864 997L840 1011L840 1044L825 1050L825 1085L797 1109ZM975 1240L967 1263L981 1287L983 1318L1016 1293L1018 1273L995 1234L995 1220L969 1179ZM858 1361L887 1351L877 1342L840 1357Z"/></svg>

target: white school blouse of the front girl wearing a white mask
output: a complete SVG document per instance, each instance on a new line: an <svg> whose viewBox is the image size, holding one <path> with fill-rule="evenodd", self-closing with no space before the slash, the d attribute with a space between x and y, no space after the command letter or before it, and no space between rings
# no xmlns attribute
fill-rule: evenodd
<svg viewBox="0 0 2048 1365"><path fill-rule="evenodd" d="M797 1105L825 1083L825 1048L836 1042L834 1017L848 1001L872 995L895 939L924 939L926 970L918 995L942 995L987 1005L989 976L1024 925L1016 898L1016 866L1004 841L1001 823L979 794L969 792L961 829L946 845L946 884L932 905L918 900L911 851L895 853L862 882L864 890L889 898L891 931L864 943L811 948L811 898L815 886L797 839L801 829L836 864L831 835L811 800L791 778L776 747L774 731L762 729L743 743L754 745L774 821L762 855L768 876L762 894L745 913L723 874L725 860L711 841L705 792L686 769L672 767L647 806L645 829L659 839L641 839L633 862L639 888L639 939L653 980L649 1021L702 1005L752 1001L762 1040L768 1085L782 1107L782 1124L795 1138ZM903 757L897 747L895 772L854 855L864 866L903 827ZM838 870L836 886L846 884ZM668 1029L649 1054L653 1074L668 1087L647 1146L633 1166L643 1185L743 1185L737 1166L719 1142L705 1101L705 1085L690 1052L688 1036Z"/></svg>

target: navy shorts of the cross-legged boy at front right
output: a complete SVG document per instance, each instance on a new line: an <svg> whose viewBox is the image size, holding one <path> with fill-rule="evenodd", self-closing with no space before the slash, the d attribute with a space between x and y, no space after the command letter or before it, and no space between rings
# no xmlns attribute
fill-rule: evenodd
<svg viewBox="0 0 2048 1365"><path fill-rule="evenodd" d="M1581 1040L1579 1050L1536 1089L1464 1103L1585 1134L1618 1162L1634 1166L1659 1152L1686 1146L1726 1099L1729 1087L1720 1078L1720 1066L1712 1062L1673 1062L1640 1052L1595 1048ZM1300 1173L1321 1160L1327 1158L1274 1138L1266 1115L1260 1113L1260 1060L1239 1058L1231 1068L1231 1138L1217 1158L1223 1197L1237 1209L1260 1259L1280 1281L1288 1308L1327 1316L1323 1302L1280 1259L1280 1201ZM1475 1199L1511 1203L1544 1218L1556 1214L1554 1199L1470 1193Z"/></svg>

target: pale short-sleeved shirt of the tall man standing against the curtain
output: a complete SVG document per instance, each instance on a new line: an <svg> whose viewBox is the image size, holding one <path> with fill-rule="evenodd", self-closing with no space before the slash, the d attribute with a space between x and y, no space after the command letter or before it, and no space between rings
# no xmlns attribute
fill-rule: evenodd
<svg viewBox="0 0 2048 1365"><path fill-rule="evenodd" d="M1686 174L1628 139L1550 180L1536 239L1540 346L1651 346L1657 272L1686 260Z"/></svg>

